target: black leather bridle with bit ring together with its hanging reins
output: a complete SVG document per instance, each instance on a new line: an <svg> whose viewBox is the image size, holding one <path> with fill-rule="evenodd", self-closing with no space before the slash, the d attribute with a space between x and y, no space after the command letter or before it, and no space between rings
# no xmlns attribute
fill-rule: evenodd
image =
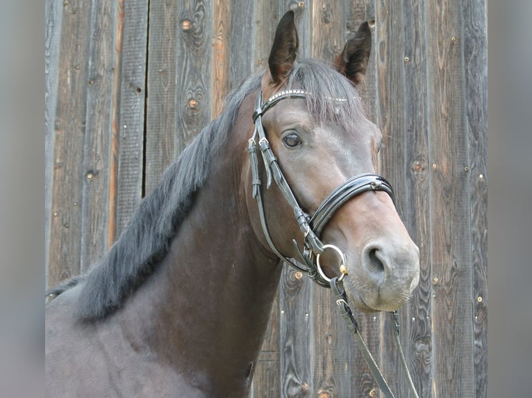
<svg viewBox="0 0 532 398"><path fill-rule="evenodd" d="M367 365L369 366L369 369L371 370L374 379L379 385L379 388L381 388L385 397L393 398L394 395L392 394L388 383L386 383L381 371L379 370L378 365L372 357L372 354L367 349L367 346L365 345L362 336L360 336L360 333L358 333L356 320L347 302L347 295L344 291L342 283L342 279L345 275L347 275L344 253L335 245L324 245L324 243L319 240L319 236L321 235L326 223L329 222L333 214L335 214L335 212L338 211L338 209L340 209L340 207L342 207L342 205L344 205L344 203L350 200L351 198L354 198L355 196L358 196L360 195L360 193L363 193L365 191L385 191L395 202L394 192L390 183L386 181L385 178L383 178L381 175L374 173L365 173L356 175L353 178L350 178L349 180L345 181L343 184L340 184L339 187L335 188L329 194L329 196L327 196L324 201L318 206L313 216L309 216L303 211L303 209L301 209L301 206L299 205L299 202L297 202L297 199L295 198L292 189L290 189L290 186L288 185L288 182L286 181L283 172L281 171L281 167L277 162L277 158L269 145L269 141L266 137L263 128L262 116L267 110L269 110L269 108L273 107L276 103L282 101L283 99L306 98L306 96L309 95L312 94L309 92L305 92L301 89L284 90L274 94L265 103L263 103L263 92L262 90L260 90L256 98L255 112L253 112L253 123L255 124L255 128L253 130L253 136L251 137L251 139L249 139L248 142L248 153L251 161L251 184L253 189L253 198L257 200L260 224L262 226L263 233L265 235L269 247L272 248L274 253L279 258L283 259L283 261L290 264L290 266L292 266L293 268L301 272L308 273L308 276L313 279L314 282L319 284L319 286L331 288L331 291L335 296L336 304L338 304L338 308L340 309L340 315L342 315L342 318L344 318L344 320L346 321L349 331L351 331L351 333L354 335L355 340L363 353L364 359ZM331 100L335 101L335 98L331 98ZM344 100L338 99L337 101ZM290 205L290 207L292 207L292 210L294 211L294 217L297 221L297 224L299 225L299 229L304 235L302 250L301 248L299 248L299 245L297 244L295 239L292 239L294 248L297 250L299 258L302 261L301 264L295 261L294 259L289 259L284 254L281 254L281 252L279 252L279 250L274 245L272 237L269 234L269 230L266 223L263 199L260 193L261 180L260 175L258 173L257 147L260 148L260 153L263 157L263 162L266 169L266 188L269 189L269 187L271 187L272 179L276 182L288 204ZM319 257L328 249L334 250L340 257L340 277L334 277L332 279L327 277L324 274L322 267L320 266ZM410 372L408 372L408 366L406 365L403 349L401 348L401 344L399 342L399 316L397 315L397 312L392 313L392 316L394 319L394 336L397 346L399 348L401 362L403 363L404 368L406 370L410 390L411 392L413 392L414 397L418 397L412 378L410 377Z"/></svg>

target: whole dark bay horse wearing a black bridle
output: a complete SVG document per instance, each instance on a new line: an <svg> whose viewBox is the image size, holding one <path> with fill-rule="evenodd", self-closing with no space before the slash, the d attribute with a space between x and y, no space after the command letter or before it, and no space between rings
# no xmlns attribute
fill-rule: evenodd
<svg viewBox="0 0 532 398"><path fill-rule="evenodd" d="M375 174L381 132L356 91L369 28L332 66L296 61L297 46L288 12L266 71L228 96L106 257L51 291L47 397L246 397L281 259L317 282L343 275L364 311L408 300L419 252Z"/></svg>

